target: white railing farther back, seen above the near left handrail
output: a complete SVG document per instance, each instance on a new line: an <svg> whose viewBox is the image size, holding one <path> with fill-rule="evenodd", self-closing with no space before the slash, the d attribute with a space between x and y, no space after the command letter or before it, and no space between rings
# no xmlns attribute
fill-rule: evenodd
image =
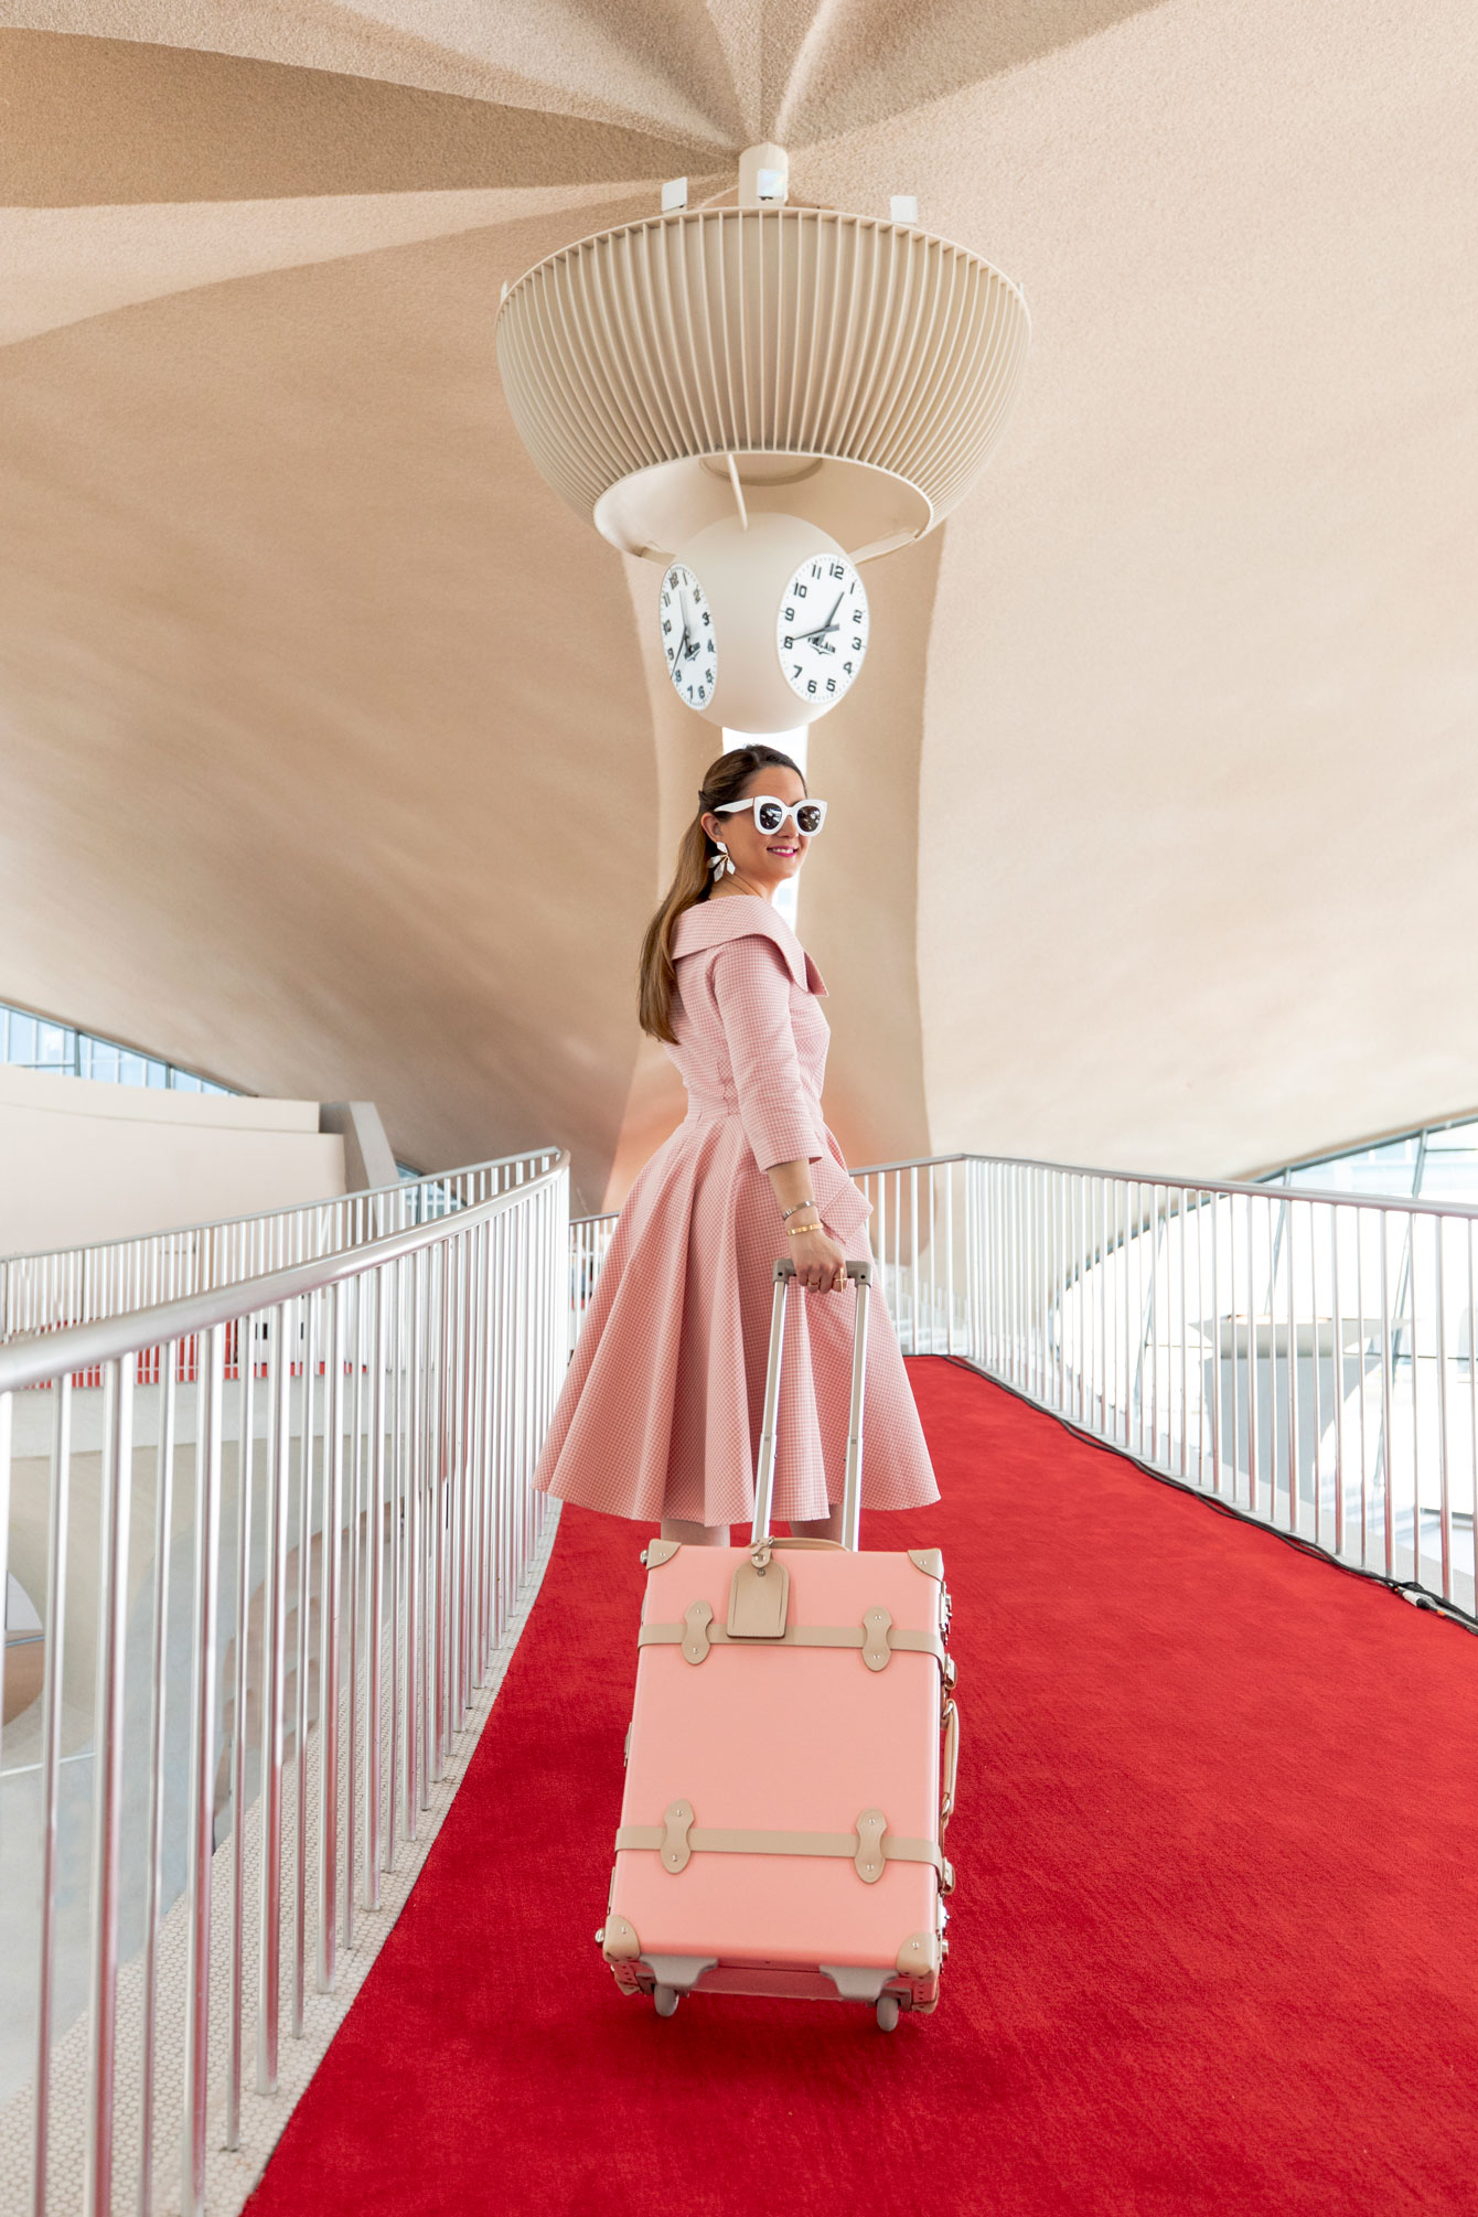
<svg viewBox="0 0 1478 2217"><path fill-rule="evenodd" d="M368 1239L386 1239L454 1208L490 1202L494 1193L543 1177L554 1162L558 1148L543 1146L368 1193L268 1208L255 1217L184 1224L142 1233L137 1239L102 1239L44 1255L7 1255L0 1257L0 1339L122 1317L131 1308L153 1308L317 1261L321 1255L343 1255Z"/></svg>

